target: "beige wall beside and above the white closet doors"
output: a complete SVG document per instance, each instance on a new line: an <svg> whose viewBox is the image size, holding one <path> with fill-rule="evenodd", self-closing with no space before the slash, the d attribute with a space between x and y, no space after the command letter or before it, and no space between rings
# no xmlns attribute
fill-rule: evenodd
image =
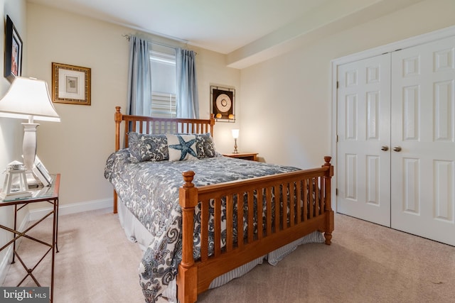
<svg viewBox="0 0 455 303"><path fill-rule="evenodd" d="M241 72L240 147L299 167L331 155L331 60L455 25L455 1L427 0Z"/></svg>

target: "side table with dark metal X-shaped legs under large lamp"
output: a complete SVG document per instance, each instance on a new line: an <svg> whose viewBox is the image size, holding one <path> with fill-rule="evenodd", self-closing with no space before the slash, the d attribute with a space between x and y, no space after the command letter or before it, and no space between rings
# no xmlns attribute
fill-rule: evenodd
<svg viewBox="0 0 455 303"><path fill-rule="evenodd" d="M11 229L9 227L0 225L1 229L9 231L14 234L14 238L6 243L1 250L9 247L11 244L13 245L13 261L12 263L19 260L23 268L26 270L26 276L23 277L23 280L18 283L17 287L21 286L21 283L26 280L26 277L30 276L33 281L36 282L36 286L41 287L40 283L36 279L35 275L33 275L33 270L41 263L41 261L45 258L48 253L51 253L51 269L50 269L50 303L53 302L53 290L54 290L54 264L55 264L55 253L58 253L58 191L60 188L60 174L58 175L51 175L53 177L53 182L48 187L43 187L41 189L31 190L32 195L31 197L23 197L18 199L4 199L0 200L0 207L2 206L13 206L14 205L14 228ZM24 231L18 231L17 227L17 214L18 211L23 209L28 204L38 203L38 202L48 202L52 204L52 208L49 211L45 211L45 214L36 221L35 223L28 226ZM39 240L36 236L30 236L28 234L35 226L40 224L44 219L48 218L48 216L53 216L53 224L52 224L52 239L49 242ZM16 250L16 240L18 238L28 238L38 243L43 244L43 246L47 246L48 249L45 250L45 253L40 259L37 261L35 265L28 265L21 259L21 256L18 254Z"/></svg>

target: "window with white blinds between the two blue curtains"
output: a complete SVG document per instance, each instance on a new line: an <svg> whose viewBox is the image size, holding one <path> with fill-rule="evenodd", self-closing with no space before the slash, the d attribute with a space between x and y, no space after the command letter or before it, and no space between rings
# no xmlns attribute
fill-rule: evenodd
<svg viewBox="0 0 455 303"><path fill-rule="evenodd" d="M150 45L151 116L176 117L176 50L156 43Z"/></svg>

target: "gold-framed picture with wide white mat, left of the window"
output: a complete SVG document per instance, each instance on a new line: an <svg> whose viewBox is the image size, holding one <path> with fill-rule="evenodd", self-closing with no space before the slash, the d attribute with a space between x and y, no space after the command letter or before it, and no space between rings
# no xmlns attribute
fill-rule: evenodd
<svg viewBox="0 0 455 303"><path fill-rule="evenodd" d="M90 105L90 68L52 62L52 101Z"/></svg>

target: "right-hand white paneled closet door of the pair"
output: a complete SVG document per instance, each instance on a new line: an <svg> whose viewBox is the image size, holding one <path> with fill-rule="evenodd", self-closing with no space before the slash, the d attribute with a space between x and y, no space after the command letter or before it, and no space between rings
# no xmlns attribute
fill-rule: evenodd
<svg viewBox="0 0 455 303"><path fill-rule="evenodd" d="M392 53L391 227L450 245L455 245L454 49L455 38L446 38Z"/></svg>

